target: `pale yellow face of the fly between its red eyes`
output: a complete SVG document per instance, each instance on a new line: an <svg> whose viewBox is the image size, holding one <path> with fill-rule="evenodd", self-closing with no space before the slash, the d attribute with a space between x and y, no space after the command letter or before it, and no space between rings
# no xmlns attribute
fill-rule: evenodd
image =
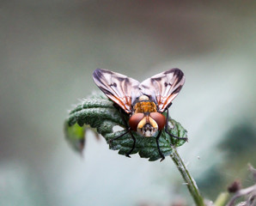
<svg viewBox="0 0 256 206"><path fill-rule="evenodd" d="M158 130L158 125L153 118L145 116L139 124L137 124L137 133L140 136L154 136Z"/></svg>

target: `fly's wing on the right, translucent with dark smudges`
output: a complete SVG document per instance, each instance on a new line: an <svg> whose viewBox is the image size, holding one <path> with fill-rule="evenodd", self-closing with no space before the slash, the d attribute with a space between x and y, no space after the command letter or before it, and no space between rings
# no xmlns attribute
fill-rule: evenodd
<svg viewBox="0 0 256 206"><path fill-rule="evenodd" d="M177 68L164 71L143 81L139 88L158 104L159 112L164 112L172 100L180 93L185 83L183 72Z"/></svg>

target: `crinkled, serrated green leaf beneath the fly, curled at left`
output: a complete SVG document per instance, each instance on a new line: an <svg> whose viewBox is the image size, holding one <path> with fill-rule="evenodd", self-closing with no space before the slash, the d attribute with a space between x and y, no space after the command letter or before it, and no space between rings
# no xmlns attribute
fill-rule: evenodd
<svg viewBox="0 0 256 206"><path fill-rule="evenodd" d="M129 115L124 112L123 116L127 124ZM114 131L113 127L117 125L123 129ZM101 134L107 140L107 143L109 143L110 139L120 136L126 131L125 123L121 118L119 110L113 106L113 101L99 94L82 100L76 108L70 111L69 118L65 121L64 131L66 139L76 151L82 151L86 138L85 131L88 129L88 126ZM174 136L187 137L186 130L174 119L169 120L168 130ZM149 161L161 159L156 146L156 136L144 137L139 136L137 132L131 132L136 138L136 145L131 154L138 153L143 158L149 158ZM170 137L165 131L162 131L162 135L159 138L160 149L164 156L172 154L173 148L171 144L180 147L185 142L184 140ZM109 148L119 150L119 154L127 154L131 150L132 145L131 135L127 133L114 140L109 145Z"/></svg>

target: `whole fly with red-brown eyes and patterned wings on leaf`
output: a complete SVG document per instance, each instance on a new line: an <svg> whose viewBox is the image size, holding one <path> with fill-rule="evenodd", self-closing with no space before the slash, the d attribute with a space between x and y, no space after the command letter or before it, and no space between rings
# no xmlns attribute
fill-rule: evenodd
<svg viewBox="0 0 256 206"><path fill-rule="evenodd" d="M185 83L183 72L177 68L170 69L140 83L110 70L97 69L94 70L93 78L101 91L130 115L129 126L121 135L124 136L129 132L133 139L133 147L126 156L130 157L136 143L131 130L137 131L140 136L153 136L158 131L156 144L164 160L158 140L162 130L173 136L168 131L168 107ZM163 112L167 112L167 118L162 114ZM119 137L112 139L111 142ZM186 140L185 137L174 137Z"/></svg>

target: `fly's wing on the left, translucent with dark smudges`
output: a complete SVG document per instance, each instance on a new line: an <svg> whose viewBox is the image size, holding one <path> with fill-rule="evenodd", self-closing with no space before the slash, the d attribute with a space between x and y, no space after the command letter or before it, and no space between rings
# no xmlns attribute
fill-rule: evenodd
<svg viewBox="0 0 256 206"><path fill-rule="evenodd" d="M137 80L103 69L94 70L93 78L110 100L117 103L125 112L131 113L131 105L140 95Z"/></svg>

